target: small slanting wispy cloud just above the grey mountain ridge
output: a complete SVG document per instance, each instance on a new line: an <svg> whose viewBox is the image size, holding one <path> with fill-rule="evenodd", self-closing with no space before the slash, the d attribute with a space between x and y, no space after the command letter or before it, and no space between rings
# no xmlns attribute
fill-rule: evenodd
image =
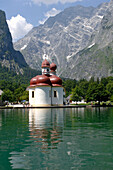
<svg viewBox="0 0 113 170"><path fill-rule="evenodd" d="M57 10L56 8L52 8L50 11L46 12L44 14L45 18L42 21L39 21L39 24L44 24L44 22L49 18L49 17L53 17L55 15L57 15L59 12L61 12L60 10Z"/></svg>

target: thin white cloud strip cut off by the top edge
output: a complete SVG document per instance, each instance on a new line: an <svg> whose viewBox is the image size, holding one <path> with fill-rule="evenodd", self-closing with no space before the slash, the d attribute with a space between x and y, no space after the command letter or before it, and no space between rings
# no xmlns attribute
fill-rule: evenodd
<svg viewBox="0 0 113 170"><path fill-rule="evenodd" d="M65 3L73 3L73 2L77 2L77 1L82 1L82 0L31 0L34 4L46 4L46 5L50 5L50 4L57 4L58 2L65 4Z"/></svg>

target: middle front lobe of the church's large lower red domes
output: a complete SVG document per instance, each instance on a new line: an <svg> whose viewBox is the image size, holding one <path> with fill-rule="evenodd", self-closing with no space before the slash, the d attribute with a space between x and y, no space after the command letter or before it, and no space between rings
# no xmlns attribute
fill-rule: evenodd
<svg viewBox="0 0 113 170"><path fill-rule="evenodd" d="M48 76L46 75L40 75L37 78L37 86L51 86L51 81Z"/></svg>

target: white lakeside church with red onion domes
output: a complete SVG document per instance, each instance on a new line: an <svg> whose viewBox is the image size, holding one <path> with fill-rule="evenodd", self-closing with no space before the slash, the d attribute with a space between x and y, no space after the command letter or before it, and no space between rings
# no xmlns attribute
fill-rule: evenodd
<svg viewBox="0 0 113 170"><path fill-rule="evenodd" d="M41 67L42 75L37 75L30 80L30 106L62 106L64 88L62 79L56 76L56 64L54 62L50 64L45 59Z"/></svg>

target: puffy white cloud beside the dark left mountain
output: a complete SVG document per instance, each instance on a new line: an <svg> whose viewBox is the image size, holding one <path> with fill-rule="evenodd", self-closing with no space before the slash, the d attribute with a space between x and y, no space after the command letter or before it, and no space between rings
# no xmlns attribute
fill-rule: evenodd
<svg viewBox="0 0 113 170"><path fill-rule="evenodd" d="M26 19L19 14L16 17L12 17L10 20L7 20L7 23L13 42L25 36L33 28L33 25L27 23Z"/></svg>

